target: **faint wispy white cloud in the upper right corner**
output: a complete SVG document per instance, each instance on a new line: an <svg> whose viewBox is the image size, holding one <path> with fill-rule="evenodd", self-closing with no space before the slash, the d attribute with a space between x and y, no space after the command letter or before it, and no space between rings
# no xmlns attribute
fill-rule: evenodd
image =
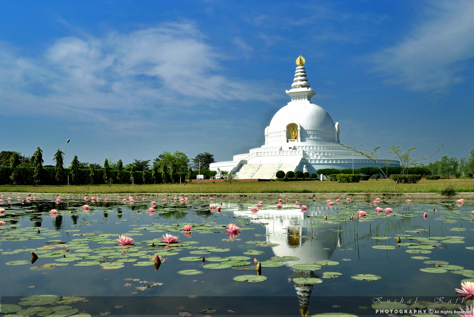
<svg viewBox="0 0 474 317"><path fill-rule="evenodd" d="M463 82L459 74L474 57L474 2L432 1L428 17L400 43L369 56L387 83L409 91L445 91Z"/></svg>

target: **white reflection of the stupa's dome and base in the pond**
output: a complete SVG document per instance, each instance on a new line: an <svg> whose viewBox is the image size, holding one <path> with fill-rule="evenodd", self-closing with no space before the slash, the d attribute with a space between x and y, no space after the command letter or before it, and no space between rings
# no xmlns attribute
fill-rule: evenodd
<svg viewBox="0 0 474 317"><path fill-rule="evenodd" d="M244 205L239 205L239 209L246 208ZM294 208L294 204L283 203L282 205L292 208L259 210L256 214L244 209L235 210L234 214L248 217L252 222L264 223L267 243L278 244L271 247L275 256L296 256L300 259L286 262L288 266L328 260L340 246L339 235L330 230L336 229L336 225L327 224L324 226L325 230L320 230L321 226L313 225L311 228L311 218L307 216L327 214L331 209L327 206L310 206L309 210L303 214L301 208ZM249 245L249 249L251 246Z"/></svg>

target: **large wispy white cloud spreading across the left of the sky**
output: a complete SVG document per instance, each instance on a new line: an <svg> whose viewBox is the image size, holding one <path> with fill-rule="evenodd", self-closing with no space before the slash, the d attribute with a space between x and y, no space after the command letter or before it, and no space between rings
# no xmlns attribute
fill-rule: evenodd
<svg viewBox="0 0 474 317"><path fill-rule="evenodd" d="M36 58L0 43L0 109L128 129L183 109L268 99L255 83L219 74L221 59L192 23L64 37Z"/></svg>

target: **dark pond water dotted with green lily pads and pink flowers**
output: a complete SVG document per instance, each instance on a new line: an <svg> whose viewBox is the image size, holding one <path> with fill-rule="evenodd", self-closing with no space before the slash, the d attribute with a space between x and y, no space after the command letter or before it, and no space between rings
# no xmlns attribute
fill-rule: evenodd
<svg viewBox="0 0 474 317"><path fill-rule="evenodd" d="M169 297L160 304L164 309L161 314L236 315L242 305L253 307L252 298L266 297L267 302L260 302L259 307L270 309L265 310L269 315L283 314L271 308L285 303L293 311L285 314L310 316L346 311L338 303L357 296L368 298L359 299L360 305L351 304L351 308L370 306L373 297L456 299L455 289L461 288L461 281L474 281L471 202L428 204L389 199L374 203L346 201L341 196L332 206L308 199L296 206L294 199L288 203L283 199L280 208L276 207L278 201L267 200L258 211L252 211L258 200L156 199L152 205L141 197L134 197L132 203L127 197L107 202L104 198L91 202L91 197L87 201L65 197L60 201L55 201L56 197L2 199L0 208L5 211L0 219L5 224L0 227L0 295L5 308L9 307L5 304L18 304L22 297L47 294L90 300L65 298L64 303L75 310L68 308L61 316L106 311L130 314L113 307L120 302L130 306L131 298L137 298L137 303L143 297ZM87 210L82 208L85 204L90 206ZM220 212L211 205L221 207ZM302 212L301 205L307 206L307 211ZM377 207L392 208L392 212L377 212ZM50 215L51 209L57 209L57 214ZM359 210L366 216L358 215ZM240 228L237 236L226 231L231 223ZM185 225L191 225L191 233L186 235ZM166 234L177 236L179 242L163 243L161 238ZM117 245L119 235L133 238L134 245ZM33 264L31 252L38 256ZM155 254L163 261L158 270ZM262 266L260 275L252 266L254 258ZM194 296L222 307L215 313L216 307L193 311ZM101 297L115 301L109 307L102 298L96 300L102 306L93 306L93 299ZM220 304L212 302L215 297L221 299ZM239 304L245 297L250 299ZM331 297L336 304L316 305L319 297ZM270 298L281 300L272 302ZM64 305L58 300L32 306L49 309ZM26 303L20 301L22 309L32 307L22 302ZM203 302L199 305L192 309L206 308ZM76 307L85 312L78 313ZM31 315L8 309L4 312L15 316ZM257 315L264 314L252 309ZM357 316L375 313L374 309L358 309L350 312ZM44 315L41 311L37 314Z"/></svg>

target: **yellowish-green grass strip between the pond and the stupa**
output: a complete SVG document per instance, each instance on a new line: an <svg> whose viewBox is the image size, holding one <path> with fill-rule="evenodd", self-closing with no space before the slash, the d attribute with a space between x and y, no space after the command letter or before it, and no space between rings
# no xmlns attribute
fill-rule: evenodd
<svg viewBox="0 0 474 317"><path fill-rule="evenodd" d="M361 181L359 183L338 183L336 181L233 181L217 183L191 184L152 184L152 185L82 185L82 186L16 186L1 185L0 192L28 193L436 193L447 186L453 186L456 192L474 192L474 180L452 179L428 181L421 180L417 184L398 184L394 189L387 180Z"/></svg>

